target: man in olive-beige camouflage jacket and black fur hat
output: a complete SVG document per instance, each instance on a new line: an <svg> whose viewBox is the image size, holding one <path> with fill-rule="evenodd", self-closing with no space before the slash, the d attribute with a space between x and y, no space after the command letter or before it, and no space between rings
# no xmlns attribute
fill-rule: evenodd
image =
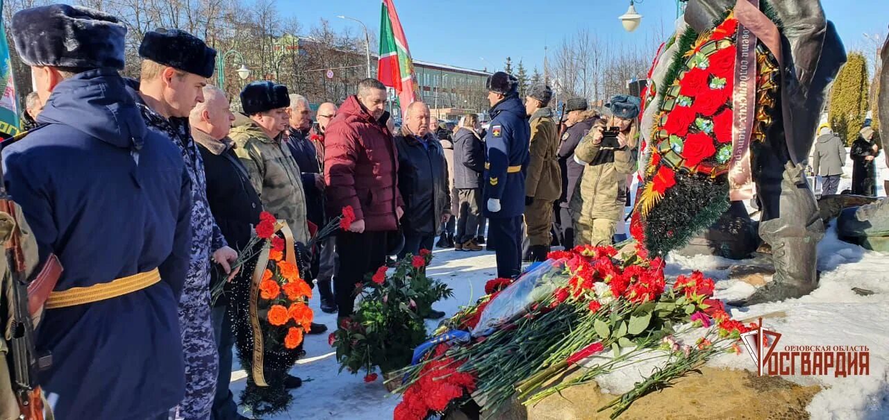
<svg viewBox="0 0 889 420"><path fill-rule="evenodd" d="M272 82L247 84L241 91L241 103L246 116L236 116L228 135L237 145L235 153L247 167L262 207L287 222L294 241L306 243L306 194L300 167L282 136L289 121L287 87Z"/></svg>

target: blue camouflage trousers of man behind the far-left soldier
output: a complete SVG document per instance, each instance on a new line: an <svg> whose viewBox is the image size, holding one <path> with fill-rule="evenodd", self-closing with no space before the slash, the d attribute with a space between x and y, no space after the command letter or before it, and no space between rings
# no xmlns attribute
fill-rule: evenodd
<svg viewBox="0 0 889 420"><path fill-rule="evenodd" d="M219 375L219 353L210 320L210 261L207 258L199 267L194 266L195 261L191 264L179 303L185 354L185 399L179 414L184 420L208 420Z"/></svg>

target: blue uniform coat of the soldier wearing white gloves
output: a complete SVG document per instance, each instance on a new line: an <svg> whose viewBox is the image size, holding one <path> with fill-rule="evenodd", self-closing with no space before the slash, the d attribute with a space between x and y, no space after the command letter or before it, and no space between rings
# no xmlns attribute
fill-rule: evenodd
<svg viewBox="0 0 889 420"><path fill-rule="evenodd" d="M491 127L485 135L485 217L515 218L525 213L525 173L531 126L525 105L517 97L503 99L491 109ZM521 170L510 171L509 168ZM501 201L501 210L488 210L488 199Z"/></svg>

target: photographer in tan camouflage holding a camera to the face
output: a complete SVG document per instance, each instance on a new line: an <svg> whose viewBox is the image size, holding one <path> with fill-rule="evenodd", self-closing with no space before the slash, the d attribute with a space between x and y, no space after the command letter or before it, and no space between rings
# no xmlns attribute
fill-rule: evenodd
<svg viewBox="0 0 889 420"><path fill-rule="evenodd" d="M627 175L636 171L640 101L617 95L605 104L612 116L598 120L574 149L584 165L571 199L574 244L610 245L627 201Z"/></svg>

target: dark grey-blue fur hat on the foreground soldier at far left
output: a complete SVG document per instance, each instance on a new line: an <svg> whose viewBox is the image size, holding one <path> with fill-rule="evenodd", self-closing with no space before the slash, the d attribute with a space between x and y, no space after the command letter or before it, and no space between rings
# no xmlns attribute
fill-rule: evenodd
<svg viewBox="0 0 889 420"><path fill-rule="evenodd" d="M109 14L52 4L12 16L12 40L28 66L124 68L126 27Z"/></svg>

